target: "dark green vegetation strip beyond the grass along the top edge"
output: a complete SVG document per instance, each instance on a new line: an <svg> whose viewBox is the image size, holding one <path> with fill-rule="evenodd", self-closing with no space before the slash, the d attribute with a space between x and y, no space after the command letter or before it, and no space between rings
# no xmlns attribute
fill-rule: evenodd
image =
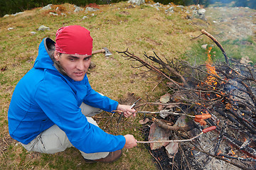
<svg viewBox="0 0 256 170"><path fill-rule="evenodd" d="M0 16L5 14L17 13L31 8L43 7L48 4L75 4L77 6L87 6L88 4L111 4L120 1L127 0L0 0ZM146 0L147 1L147 0ZM153 0L152 0L153 1ZM225 6L233 1L233 6L247 6L250 8L256 8L255 0L155 0L161 4L174 3L176 5L197 5L209 6L210 4L220 3L221 6Z"/></svg>

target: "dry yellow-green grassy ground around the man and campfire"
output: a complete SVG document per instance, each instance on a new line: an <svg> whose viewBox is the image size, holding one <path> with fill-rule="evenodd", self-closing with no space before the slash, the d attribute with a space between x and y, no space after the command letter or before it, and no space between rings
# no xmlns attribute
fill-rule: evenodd
<svg viewBox="0 0 256 170"><path fill-rule="evenodd" d="M94 39L93 50L102 47L110 49L113 54L110 57L103 54L92 57L96 67L90 71L88 77L93 89L120 103L131 104L138 97L142 97L142 102L157 101L168 88L156 75L143 72L143 68L131 67L137 63L125 60L116 51L128 48L129 52L142 58L144 52L148 55L156 52L159 57L166 57L174 62L187 60L198 64L206 61L207 57L206 50L201 45L213 45L213 42L204 36L191 39L201 35L201 29L206 29L220 40L229 57L238 60L247 57L251 64L256 62L255 32L247 35L242 31L235 31L242 36L231 36L229 33L233 31L229 30L233 28L233 21L234 24L245 21L255 24L255 10L240 8L238 12L233 8L206 8L206 13L212 17L201 20L191 18L191 13L187 13L191 11L191 7L196 6L181 8L172 4L174 11L166 12L170 5L159 5L156 8L151 1L142 6L134 6L122 1L90 4L99 8L98 11L74 12L74 4L54 4L48 10L33 8L17 16L0 18L0 169L156 169L157 163L149 154L148 145L124 149L121 159L112 164L85 164L75 148L57 154L26 152L9 136L7 113L14 88L21 77L33 67L41 40L46 37L55 40L55 32L62 26L84 26L90 30ZM224 15L220 10L233 13ZM51 15L50 12L57 13L58 16ZM234 20L234 17L237 19ZM221 22L220 18L230 18L230 22ZM218 21L218 24L213 24L213 21ZM38 30L42 25L49 29ZM212 55L213 60L224 61L222 53L215 45ZM118 115L104 112L95 119L106 132L114 135L129 133L137 140L146 140L142 125L138 123L143 115L126 118L119 125L117 118Z"/></svg>

